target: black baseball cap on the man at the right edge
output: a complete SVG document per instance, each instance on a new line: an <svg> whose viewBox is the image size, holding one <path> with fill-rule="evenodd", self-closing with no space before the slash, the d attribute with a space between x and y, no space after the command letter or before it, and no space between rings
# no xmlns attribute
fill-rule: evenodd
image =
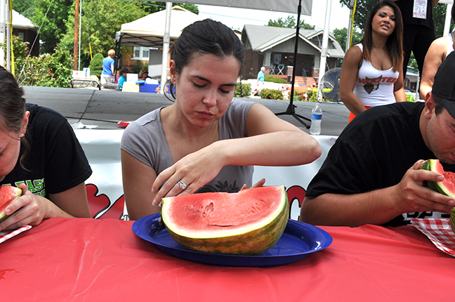
<svg viewBox="0 0 455 302"><path fill-rule="evenodd" d="M437 69L432 93L442 98L447 112L455 119L455 51Z"/></svg>

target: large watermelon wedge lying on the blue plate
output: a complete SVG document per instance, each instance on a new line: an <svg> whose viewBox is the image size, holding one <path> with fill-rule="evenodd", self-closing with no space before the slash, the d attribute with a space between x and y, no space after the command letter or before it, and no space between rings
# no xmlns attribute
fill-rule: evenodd
<svg viewBox="0 0 455 302"><path fill-rule="evenodd" d="M161 218L180 245L216 254L263 254L289 216L283 186L162 199Z"/></svg>

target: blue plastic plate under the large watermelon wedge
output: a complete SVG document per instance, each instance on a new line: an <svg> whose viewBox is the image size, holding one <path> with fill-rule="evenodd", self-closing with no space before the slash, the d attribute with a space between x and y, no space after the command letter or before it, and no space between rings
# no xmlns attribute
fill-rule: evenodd
<svg viewBox="0 0 455 302"><path fill-rule="evenodd" d="M289 219L282 237L272 249L262 255L209 254L185 249L172 239L164 225L159 224L160 214L152 214L133 223L133 232L152 242L167 254L199 263L225 266L275 266L293 263L310 253L329 247L332 237L328 232L300 221Z"/></svg>

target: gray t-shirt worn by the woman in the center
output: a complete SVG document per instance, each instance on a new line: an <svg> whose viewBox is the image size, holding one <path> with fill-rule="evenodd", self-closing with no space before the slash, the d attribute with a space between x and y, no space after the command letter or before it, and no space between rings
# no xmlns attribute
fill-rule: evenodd
<svg viewBox="0 0 455 302"><path fill-rule="evenodd" d="M251 105L253 102L232 100L223 117L218 120L220 140L246 137L246 114ZM161 109L149 112L129 124L121 138L121 149L151 166L157 175L174 164L159 117ZM253 170L253 166L224 166L213 180L196 192L237 192L244 184L249 188Z"/></svg>

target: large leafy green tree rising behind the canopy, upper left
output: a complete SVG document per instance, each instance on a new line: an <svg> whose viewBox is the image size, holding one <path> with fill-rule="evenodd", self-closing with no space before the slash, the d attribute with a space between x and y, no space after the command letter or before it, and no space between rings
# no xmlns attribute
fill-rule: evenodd
<svg viewBox="0 0 455 302"><path fill-rule="evenodd" d="M194 4L173 4L173 6L175 5L182 6L193 13L199 13L199 9ZM141 1L140 3L135 3L133 1L119 0L110 2L106 0L84 0L81 6L81 34L86 36L86 40L88 40L89 36L93 35L93 40L96 44L97 41L107 38L106 31L111 33L112 28L119 30L120 25L124 22L131 22L149 13L161 11L166 8L166 2ZM110 6L110 9L107 9L107 6ZM63 41L63 45L72 51L74 46L71 45L69 40L72 39L72 43L74 43L74 0L14 0L13 9L32 20L35 25L40 26L42 24L39 32L41 53L53 53L55 46L64 37L65 41ZM127 11L123 11L124 9ZM109 13L110 15L103 15L103 13ZM84 29L84 26L86 26L84 25L84 21L87 21L84 20L84 15L85 18L90 19L89 23L92 27L86 27ZM133 19L126 18L126 16L132 16ZM100 18L100 23L93 20L93 18L98 17ZM107 19L108 21L106 22ZM109 25L109 27L103 27L103 25ZM97 32L100 34L99 37ZM114 37L114 34L115 32L112 33L112 37ZM112 39L107 39L107 41L110 43ZM100 44L103 44L103 42L100 42ZM88 45L88 41L86 41L86 45ZM84 55L86 55L85 52Z"/></svg>

